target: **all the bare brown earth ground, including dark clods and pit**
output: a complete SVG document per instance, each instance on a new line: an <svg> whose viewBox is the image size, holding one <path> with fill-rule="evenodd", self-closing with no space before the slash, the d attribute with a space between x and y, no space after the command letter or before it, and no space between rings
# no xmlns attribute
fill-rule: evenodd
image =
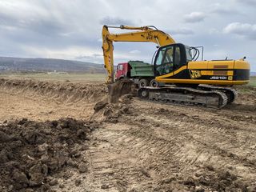
<svg viewBox="0 0 256 192"><path fill-rule="evenodd" d="M222 110L0 79L0 191L256 191L256 89Z"/></svg>

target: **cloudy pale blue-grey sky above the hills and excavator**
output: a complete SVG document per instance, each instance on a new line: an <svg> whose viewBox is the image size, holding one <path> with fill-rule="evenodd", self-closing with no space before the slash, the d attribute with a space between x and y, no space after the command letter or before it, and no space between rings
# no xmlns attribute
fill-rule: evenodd
<svg viewBox="0 0 256 192"><path fill-rule="evenodd" d="M102 64L103 25L156 26L204 46L204 59L246 56L256 71L256 0L0 0L0 56ZM114 63L151 62L156 46L115 42Z"/></svg>

